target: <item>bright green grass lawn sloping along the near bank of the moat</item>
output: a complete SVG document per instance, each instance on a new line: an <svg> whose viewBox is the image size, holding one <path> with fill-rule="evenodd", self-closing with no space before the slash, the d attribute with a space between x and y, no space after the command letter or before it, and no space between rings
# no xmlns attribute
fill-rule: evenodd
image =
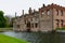
<svg viewBox="0 0 65 43"><path fill-rule="evenodd" d="M0 34L0 43L28 43L27 41L15 39L12 37L8 37L4 34Z"/></svg>

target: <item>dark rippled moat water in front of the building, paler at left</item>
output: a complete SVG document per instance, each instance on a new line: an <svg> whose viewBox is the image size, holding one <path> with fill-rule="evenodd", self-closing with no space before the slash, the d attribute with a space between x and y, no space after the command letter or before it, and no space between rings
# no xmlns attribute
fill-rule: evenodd
<svg viewBox="0 0 65 43"><path fill-rule="evenodd" d="M43 32L1 32L3 34L26 40L30 43L65 43L65 33Z"/></svg>

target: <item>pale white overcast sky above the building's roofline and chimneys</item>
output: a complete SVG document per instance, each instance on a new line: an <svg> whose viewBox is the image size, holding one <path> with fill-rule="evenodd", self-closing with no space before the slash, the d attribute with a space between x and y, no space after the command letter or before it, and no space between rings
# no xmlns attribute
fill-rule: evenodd
<svg viewBox="0 0 65 43"><path fill-rule="evenodd" d="M15 12L20 16L22 14L22 10L25 13L28 12L28 9L38 10L42 6L42 3L46 5L55 3L62 6L65 6L65 0L0 0L0 11L4 12L4 15L14 16Z"/></svg>

